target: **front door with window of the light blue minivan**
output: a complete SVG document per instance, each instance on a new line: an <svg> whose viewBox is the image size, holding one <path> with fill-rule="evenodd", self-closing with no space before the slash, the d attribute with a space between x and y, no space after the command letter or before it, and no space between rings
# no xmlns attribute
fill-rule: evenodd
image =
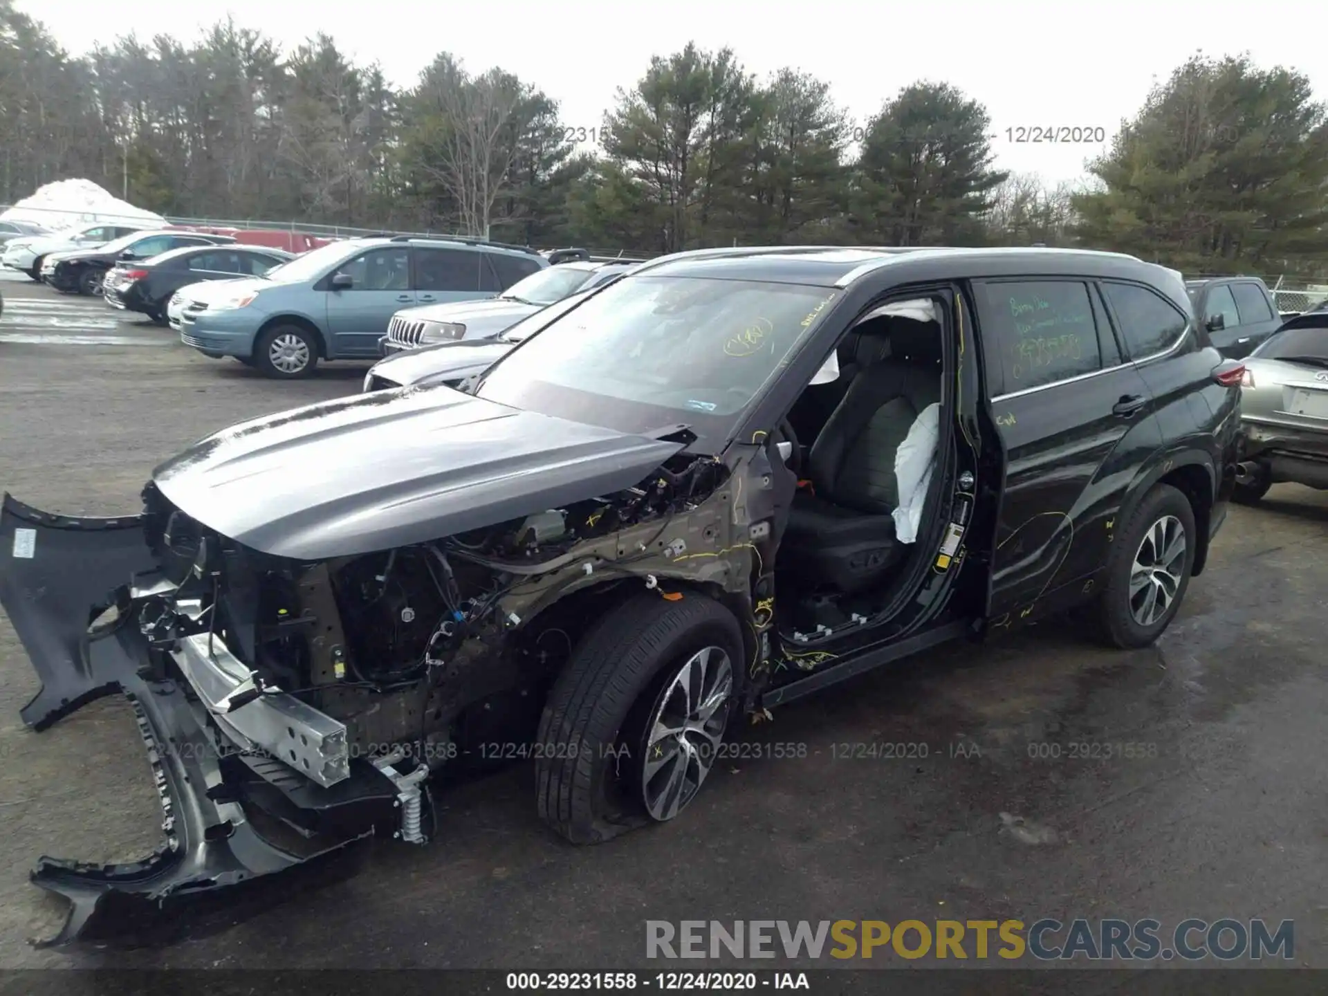
<svg viewBox="0 0 1328 996"><path fill-rule="evenodd" d="M410 290L410 248L372 248L347 260L336 272L349 276L351 286L325 291L332 359L376 357L392 316L416 303Z"/></svg>

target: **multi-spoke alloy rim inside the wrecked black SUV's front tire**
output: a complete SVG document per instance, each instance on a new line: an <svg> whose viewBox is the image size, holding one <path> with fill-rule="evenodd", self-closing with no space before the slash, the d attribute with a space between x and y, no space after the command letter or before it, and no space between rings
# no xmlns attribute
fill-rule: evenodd
<svg viewBox="0 0 1328 996"><path fill-rule="evenodd" d="M696 797L724 740L733 664L718 647L697 651L673 676L647 724L641 802L672 819Z"/></svg>

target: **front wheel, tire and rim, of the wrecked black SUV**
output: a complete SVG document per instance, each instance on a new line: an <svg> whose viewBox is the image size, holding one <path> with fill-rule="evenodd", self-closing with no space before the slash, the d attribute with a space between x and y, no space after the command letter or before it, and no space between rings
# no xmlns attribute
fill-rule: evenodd
<svg viewBox="0 0 1328 996"><path fill-rule="evenodd" d="M713 599L647 594L614 610L544 705L539 817L599 843L679 815L720 756L742 660L737 620Z"/></svg>

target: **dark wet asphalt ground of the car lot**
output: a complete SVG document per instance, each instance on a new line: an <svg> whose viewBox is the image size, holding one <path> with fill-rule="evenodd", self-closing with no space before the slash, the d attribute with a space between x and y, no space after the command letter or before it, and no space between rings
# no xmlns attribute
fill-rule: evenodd
<svg viewBox="0 0 1328 996"><path fill-rule="evenodd" d="M365 369L270 382L97 300L0 293L0 489L50 511L133 511L175 449ZM1060 623L943 648L777 710L675 823L572 847L517 766L446 798L428 847L60 951L29 944L62 915L36 858L141 857L161 814L121 701L23 726L37 683L0 616L0 968L657 969L648 919L1048 916L1292 919L1292 964L1328 968L1325 563L1328 495L1279 486L1231 511L1154 648Z"/></svg>

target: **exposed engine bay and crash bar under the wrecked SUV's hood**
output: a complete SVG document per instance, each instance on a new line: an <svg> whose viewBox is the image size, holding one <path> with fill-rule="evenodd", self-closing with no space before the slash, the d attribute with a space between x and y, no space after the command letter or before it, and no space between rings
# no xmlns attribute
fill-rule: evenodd
<svg viewBox="0 0 1328 996"><path fill-rule="evenodd" d="M606 558L595 540L612 546L624 529L647 523L663 531L724 475L712 458L679 457L625 491L317 563L234 543L149 485L147 537L161 576L125 590L118 610L137 615L158 667L169 659L205 697L215 695L207 708L242 753L324 788L368 761L398 788L410 780L401 799L409 814L425 776L483 766L501 760L498 744L534 734L540 692L571 652L579 620L552 614L523 627L507 602L538 591L550 604L606 572L631 576L627 564L661 551L644 544ZM247 717L247 728L230 720L251 703L270 716ZM401 835L425 839L417 821Z"/></svg>

